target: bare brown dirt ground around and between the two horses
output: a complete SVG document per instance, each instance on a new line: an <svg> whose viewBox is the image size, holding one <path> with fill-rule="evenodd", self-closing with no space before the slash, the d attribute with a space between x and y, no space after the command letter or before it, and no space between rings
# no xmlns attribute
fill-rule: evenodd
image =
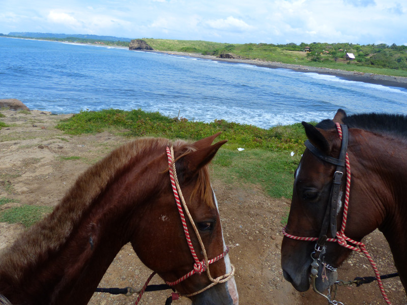
<svg viewBox="0 0 407 305"><path fill-rule="evenodd" d="M0 210L22 204L56 205L76 177L113 148L130 141L108 132L69 136L54 129L59 119L70 115L51 115L38 110L31 114L2 110L0 118L10 127L0 130L0 197L15 199ZM66 160L66 157L80 157ZM239 244L230 250L236 266L236 284L240 304L326 304L312 290L297 292L282 276L280 265L281 219L289 209L289 200L273 199L255 186L234 186L213 180L219 202L226 243ZM6 248L23 231L21 224L0 223L0 249ZM383 235L375 231L365 238L367 250L380 272L395 272L392 256ZM125 245L106 271L99 287L139 287L150 275ZM338 269L338 278L372 276L366 258L354 253ZM153 284L162 283L157 277ZM397 279L384 281L395 305L407 303ZM163 304L168 292L148 292L142 304ZM133 304L136 296L111 296L95 293L89 304ZM361 287L338 287L336 300L346 305L385 304L375 283ZM186 298L174 304L190 304Z"/></svg>

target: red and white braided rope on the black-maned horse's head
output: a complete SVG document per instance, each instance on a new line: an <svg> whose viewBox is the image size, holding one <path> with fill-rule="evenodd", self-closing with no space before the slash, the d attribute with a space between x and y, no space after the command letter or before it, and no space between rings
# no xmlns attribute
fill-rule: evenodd
<svg viewBox="0 0 407 305"><path fill-rule="evenodd" d="M342 140L342 128L340 127L339 123L336 123L336 129L338 130L339 138ZM348 211L348 206L349 206L349 194L351 190L351 164L349 162L349 158L346 152L346 157L345 157L345 164L346 164L346 187L345 187L345 202L343 204L343 217L342 217L342 225L340 228L340 231L336 232L336 238L327 238L326 241L332 241L332 242L337 242L340 246L345 247L347 249L351 249L353 251L357 252L362 252L366 258L369 260L370 265L373 268L376 280L377 280L377 285L379 286L379 289L382 293L383 299L386 301L388 305L391 305L391 302L389 298L386 295L386 291L383 287L382 280L380 279L380 273L379 270L377 270L376 264L374 263L372 257L366 250L366 246L364 245L363 242L360 241L355 241L345 235L345 227L346 227L346 221L347 221L347 211ZM288 238L296 239L296 240L305 240L305 241L316 241L318 240L318 237L302 237L302 236L295 236L288 234L285 232L285 228L283 228L283 235ZM353 243L353 245L359 247L355 247L352 245L349 245L349 243Z"/></svg>

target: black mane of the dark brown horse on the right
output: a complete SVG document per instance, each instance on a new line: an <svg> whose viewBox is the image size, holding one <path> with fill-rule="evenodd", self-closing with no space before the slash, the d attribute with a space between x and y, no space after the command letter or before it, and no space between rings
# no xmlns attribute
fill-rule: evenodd
<svg viewBox="0 0 407 305"><path fill-rule="evenodd" d="M376 134L407 138L407 116L387 113L362 113L345 116L343 124L349 128L359 128ZM326 119L316 125L318 128L335 128L332 120Z"/></svg>

